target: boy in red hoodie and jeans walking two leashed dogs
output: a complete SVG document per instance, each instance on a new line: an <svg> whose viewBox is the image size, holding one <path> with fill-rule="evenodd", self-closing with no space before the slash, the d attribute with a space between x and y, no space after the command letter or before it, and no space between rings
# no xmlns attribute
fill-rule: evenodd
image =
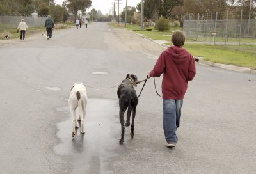
<svg viewBox="0 0 256 174"><path fill-rule="evenodd" d="M184 95L196 74L195 60L182 46L185 43L183 31L174 31L171 40L173 45L161 53L150 77L160 77L162 80L163 97L163 129L165 145L175 147L178 138L176 130L180 125L181 107Z"/></svg>

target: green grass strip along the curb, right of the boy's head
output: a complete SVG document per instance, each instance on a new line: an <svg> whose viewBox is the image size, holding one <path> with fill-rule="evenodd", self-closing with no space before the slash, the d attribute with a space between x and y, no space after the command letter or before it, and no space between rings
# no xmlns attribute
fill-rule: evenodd
<svg viewBox="0 0 256 174"><path fill-rule="evenodd" d="M185 44L184 47L193 55L204 57L205 61L224 63L256 69L256 46L241 45L197 45Z"/></svg>

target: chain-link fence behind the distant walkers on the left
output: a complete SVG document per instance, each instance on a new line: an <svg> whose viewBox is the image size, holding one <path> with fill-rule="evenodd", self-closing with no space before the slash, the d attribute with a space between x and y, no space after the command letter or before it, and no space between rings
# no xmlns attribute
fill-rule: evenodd
<svg viewBox="0 0 256 174"><path fill-rule="evenodd" d="M24 19L28 27L33 27L44 26L47 17L0 15L0 31L17 28L17 26L21 22L21 19Z"/></svg>

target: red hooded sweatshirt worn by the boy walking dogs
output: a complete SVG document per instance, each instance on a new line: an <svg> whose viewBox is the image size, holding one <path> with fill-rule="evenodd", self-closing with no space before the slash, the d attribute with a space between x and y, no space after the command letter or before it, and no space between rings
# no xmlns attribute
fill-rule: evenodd
<svg viewBox="0 0 256 174"><path fill-rule="evenodd" d="M156 65L150 71L150 77L163 75L163 99L183 99L191 81L196 74L195 60L182 47L168 47L157 59Z"/></svg>

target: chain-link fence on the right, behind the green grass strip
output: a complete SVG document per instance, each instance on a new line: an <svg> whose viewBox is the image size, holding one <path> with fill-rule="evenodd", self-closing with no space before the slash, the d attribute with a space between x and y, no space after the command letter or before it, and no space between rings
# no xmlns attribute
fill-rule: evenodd
<svg viewBox="0 0 256 174"><path fill-rule="evenodd" d="M255 19L184 20L184 31L189 40L201 42L256 43Z"/></svg>

